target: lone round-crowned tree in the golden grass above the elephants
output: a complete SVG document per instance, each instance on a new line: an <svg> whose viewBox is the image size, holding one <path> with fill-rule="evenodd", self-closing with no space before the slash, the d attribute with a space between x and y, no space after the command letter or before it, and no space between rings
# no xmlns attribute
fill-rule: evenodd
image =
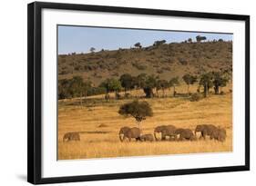
<svg viewBox="0 0 256 186"><path fill-rule="evenodd" d="M146 117L153 116L152 109L150 105L143 101L138 102L138 100L131 103L125 103L120 106L118 113L126 117L132 116L138 122L138 128L140 129L140 122L146 120Z"/></svg>

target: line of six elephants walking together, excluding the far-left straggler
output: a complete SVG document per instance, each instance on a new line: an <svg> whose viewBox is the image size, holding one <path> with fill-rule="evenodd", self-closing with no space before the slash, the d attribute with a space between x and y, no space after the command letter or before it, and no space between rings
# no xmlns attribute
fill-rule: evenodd
<svg viewBox="0 0 256 186"><path fill-rule="evenodd" d="M200 132L200 139L204 140L207 136L210 136L210 140L214 139L220 142L224 142L227 136L225 129L216 127L213 124L199 124L196 126L194 132L192 132L190 129L177 128L174 125L161 125L155 128L154 136L150 133L141 134L137 127L122 127L119 131L119 139L121 142L123 142L125 139L128 139L129 142L131 139L135 139L136 141L140 142L153 142L154 140L196 141L197 132ZM161 139L158 139L157 133L161 134Z"/></svg>

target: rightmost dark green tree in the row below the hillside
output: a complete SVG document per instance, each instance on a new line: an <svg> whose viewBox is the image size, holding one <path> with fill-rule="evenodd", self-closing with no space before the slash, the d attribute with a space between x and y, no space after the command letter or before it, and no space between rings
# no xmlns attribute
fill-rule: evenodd
<svg viewBox="0 0 256 186"><path fill-rule="evenodd" d="M213 72L213 86L215 94L221 93L221 87L224 87L229 82L229 78L224 76L223 73L220 72Z"/></svg>

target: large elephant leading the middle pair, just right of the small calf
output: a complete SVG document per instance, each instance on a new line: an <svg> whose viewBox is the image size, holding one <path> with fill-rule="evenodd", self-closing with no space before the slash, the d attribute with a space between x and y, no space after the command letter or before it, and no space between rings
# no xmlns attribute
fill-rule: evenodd
<svg viewBox="0 0 256 186"><path fill-rule="evenodd" d="M169 140L174 137L174 140L176 140L176 127L173 125L160 125L155 128L154 136L156 141L158 141L157 133L161 133L161 140L166 140L166 137L169 136Z"/></svg>

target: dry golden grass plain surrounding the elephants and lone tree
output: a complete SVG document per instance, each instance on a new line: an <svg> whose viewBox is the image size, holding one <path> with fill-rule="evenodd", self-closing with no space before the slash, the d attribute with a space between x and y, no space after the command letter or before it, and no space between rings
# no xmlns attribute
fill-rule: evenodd
<svg viewBox="0 0 256 186"><path fill-rule="evenodd" d="M110 100L104 95L87 98L81 107L76 99L59 101L58 106L58 159L87 159L159 154L230 152L232 151L232 94L231 85L223 88L224 95L210 95L200 102L189 102L186 97L147 99L154 115L143 121L143 133L153 133L156 126L173 124L195 129L200 123L211 123L227 130L225 142L119 142L118 131L122 126L137 126L133 118L118 114L122 103L131 100ZM197 87L190 87L195 93ZM186 93L186 85L177 87L178 93ZM132 94L140 95L141 91ZM166 91L168 95L170 91ZM66 132L80 132L80 142L62 142Z"/></svg>

